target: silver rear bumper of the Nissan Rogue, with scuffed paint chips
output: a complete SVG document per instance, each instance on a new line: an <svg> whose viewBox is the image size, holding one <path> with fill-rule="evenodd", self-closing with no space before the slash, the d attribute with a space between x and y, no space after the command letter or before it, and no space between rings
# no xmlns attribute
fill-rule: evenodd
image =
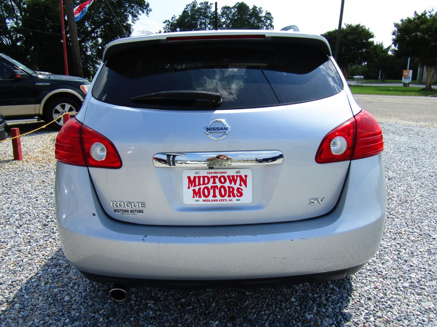
<svg viewBox="0 0 437 327"><path fill-rule="evenodd" d="M58 163L55 185L66 258L102 282L298 280L302 275L310 275L302 281L315 281L314 274L339 271L347 271L346 276L356 270L350 267L361 266L378 250L385 217L382 155L351 162L340 199L329 214L283 223L129 224L104 213L86 167Z"/></svg>

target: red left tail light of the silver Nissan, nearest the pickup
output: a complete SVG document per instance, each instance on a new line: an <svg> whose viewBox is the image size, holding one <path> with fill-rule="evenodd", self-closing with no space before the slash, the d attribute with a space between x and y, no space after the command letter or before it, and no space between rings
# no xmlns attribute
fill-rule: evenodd
<svg viewBox="0 0 437 327"><path fill-rule="evenodd" d="M70 119L58 133L55 158L64 164L99 168L120 168L114 144L94 129Z"/></svg>

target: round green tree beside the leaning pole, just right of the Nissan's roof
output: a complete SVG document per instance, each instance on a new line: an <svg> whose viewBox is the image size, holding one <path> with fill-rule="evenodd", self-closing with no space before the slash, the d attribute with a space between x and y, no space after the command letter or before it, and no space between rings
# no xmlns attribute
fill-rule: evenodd
<svg viewBox="0 0 437 327"><path fill-rule="evenodd" d="M328 40L331 50L334 49L337 30L328 31L322 36ZM364 65L375 58L375 50L378 50L378 47L375 47L375 42L371 40L374 36L361 24L345 24L345 27L341 28L337 63L345 78L350 67Z"/></svg>

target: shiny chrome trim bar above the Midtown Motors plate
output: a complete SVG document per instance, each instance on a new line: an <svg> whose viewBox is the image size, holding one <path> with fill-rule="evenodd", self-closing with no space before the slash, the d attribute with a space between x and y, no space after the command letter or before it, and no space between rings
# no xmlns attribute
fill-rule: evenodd
<svg viewBox="0 0 437 327"><path fill-rule="evenodd" d="M156 153L155 167L215 168L282 164L284 154L278 150Z"/></svg>

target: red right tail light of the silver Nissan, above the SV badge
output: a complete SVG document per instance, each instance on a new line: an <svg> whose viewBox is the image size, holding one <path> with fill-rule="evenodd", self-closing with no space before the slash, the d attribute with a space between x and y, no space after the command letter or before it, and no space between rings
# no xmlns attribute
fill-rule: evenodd
<svg viewBox="0 0 437 327"><path fill-rule="evenodd" d="M366 110L330 131L316 154L318 164L361 159L384 150L382 131L376 119Z"/></svg>

